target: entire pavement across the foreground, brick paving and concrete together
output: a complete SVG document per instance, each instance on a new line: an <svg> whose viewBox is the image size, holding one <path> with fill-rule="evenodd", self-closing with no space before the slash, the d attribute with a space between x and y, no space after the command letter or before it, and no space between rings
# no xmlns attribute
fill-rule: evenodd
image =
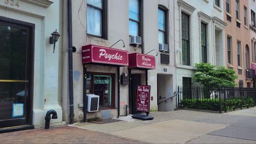
<svg viewBox="0 0 256 144"><path fill-rule="evenodd" d="M152 121L131 116L119 122L0 134L0 143L256 143L256 107L228 113L151 112Z"/></svg>

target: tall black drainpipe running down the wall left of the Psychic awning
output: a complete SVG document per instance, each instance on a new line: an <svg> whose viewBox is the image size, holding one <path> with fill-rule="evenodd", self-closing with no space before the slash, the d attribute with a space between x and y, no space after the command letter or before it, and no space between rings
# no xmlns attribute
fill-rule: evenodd
<svg viewBox="0 0 256 144"><path fill-rule="evenodd" d="M72 49L72 0L68 0L68 87L69 87L69 124L74 122L73 97L73 49Z"/></svg>

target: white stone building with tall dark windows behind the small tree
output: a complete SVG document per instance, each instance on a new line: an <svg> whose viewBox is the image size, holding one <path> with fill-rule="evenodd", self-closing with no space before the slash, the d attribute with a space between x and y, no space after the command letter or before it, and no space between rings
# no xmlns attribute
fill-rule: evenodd
<svg viewBox="0 0 256 144"><path fill-rule="evenodd" d="M225 66L223 0L178 0L174 7L177 86L191 87L195 63Z"/></svg>

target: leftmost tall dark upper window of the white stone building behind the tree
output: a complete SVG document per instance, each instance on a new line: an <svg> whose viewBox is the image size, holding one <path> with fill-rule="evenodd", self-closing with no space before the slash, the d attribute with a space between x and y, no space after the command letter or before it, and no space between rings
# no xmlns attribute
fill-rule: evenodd
<svg viewBox="0 0 256 144"><path fill-rule="evenodd" d="M182 13L182 64L190 65L189 15Z"/></svg>

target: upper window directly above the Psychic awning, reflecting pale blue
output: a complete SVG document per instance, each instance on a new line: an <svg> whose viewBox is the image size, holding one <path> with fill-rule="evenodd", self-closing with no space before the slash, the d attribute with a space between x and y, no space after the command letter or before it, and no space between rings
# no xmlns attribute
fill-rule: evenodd
<svg viewBox="0 0 256 144"><path fill-rule="evenodd" d="M107 39L107 1L87 1L87 33Z"/></svg>

